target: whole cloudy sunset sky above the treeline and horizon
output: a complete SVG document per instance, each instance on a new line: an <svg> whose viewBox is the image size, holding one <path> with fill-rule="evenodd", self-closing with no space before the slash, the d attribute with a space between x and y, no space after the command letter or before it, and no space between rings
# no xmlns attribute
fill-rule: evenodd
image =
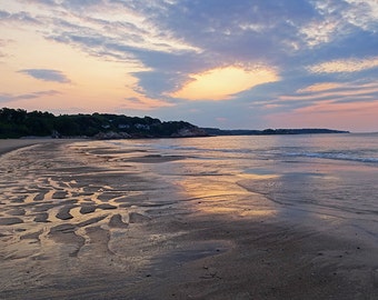
<svg viewBox="0 0 378 300"><path fill-rule="evenodd" d="M0 0L0 108L378 131L378 0Z"/></svg>

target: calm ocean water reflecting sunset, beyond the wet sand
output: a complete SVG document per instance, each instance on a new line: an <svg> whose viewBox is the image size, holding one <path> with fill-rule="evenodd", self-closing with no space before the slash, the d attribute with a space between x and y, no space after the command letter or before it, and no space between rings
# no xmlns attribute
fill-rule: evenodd
<svg viewBox="0 0 378 300"><path fill-rule="evenodd" d="M151 163L196 194L227 197L230 182L275 203L280 213L368 221L378 238L378 134L300 134L109 141L141 154L178 157ZM209 191L210 190L210 191ZM251 198L252 199L252 198ZM245 200L245 199L243 199ZM252 201L252 200L251 200ZM369 229L370 228L370 229Z"/></svg>

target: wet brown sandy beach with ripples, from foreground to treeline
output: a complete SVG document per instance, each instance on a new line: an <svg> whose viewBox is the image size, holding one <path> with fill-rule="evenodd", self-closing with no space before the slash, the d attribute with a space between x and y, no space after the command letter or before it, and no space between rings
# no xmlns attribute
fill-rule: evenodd
<svg viewBox="0 0 378 300"><path fill-rule="evenodd" d="M282 217L231 180L153 171L185 158L0 148L0 299L377 299L376 242Z"/></svg>

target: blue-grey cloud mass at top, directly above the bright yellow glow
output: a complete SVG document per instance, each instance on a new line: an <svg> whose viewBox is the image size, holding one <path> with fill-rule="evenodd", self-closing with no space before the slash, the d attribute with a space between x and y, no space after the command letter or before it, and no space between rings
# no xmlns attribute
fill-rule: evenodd
<svg viewBox="0 0 378 300"><path fill-rule="evenodd" d="M295 6L280 0L181 1L152 14L151 21L202 49L200 60L211 58L232 64L269 62L278 58L278 52L289 53L298 40L297 28L314 13L307 1L297 1Z"/></svg>

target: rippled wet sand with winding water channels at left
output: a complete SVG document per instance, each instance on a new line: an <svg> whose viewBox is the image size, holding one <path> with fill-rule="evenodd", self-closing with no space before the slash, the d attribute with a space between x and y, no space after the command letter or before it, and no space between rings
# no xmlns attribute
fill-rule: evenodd
<svg viewBox="0 0 378 300"><path fill-rule="evenodd" d="M47 284L87 268L136 268L141 261L127 239L148 242L133 230L152 220L149 191L158 189L162 199L169 194L130 166L72 144L7 153L0 157L0 256L2 268L13 269L1 290L20 282ZM171 204L153 201L157 209Z"/></svg>

